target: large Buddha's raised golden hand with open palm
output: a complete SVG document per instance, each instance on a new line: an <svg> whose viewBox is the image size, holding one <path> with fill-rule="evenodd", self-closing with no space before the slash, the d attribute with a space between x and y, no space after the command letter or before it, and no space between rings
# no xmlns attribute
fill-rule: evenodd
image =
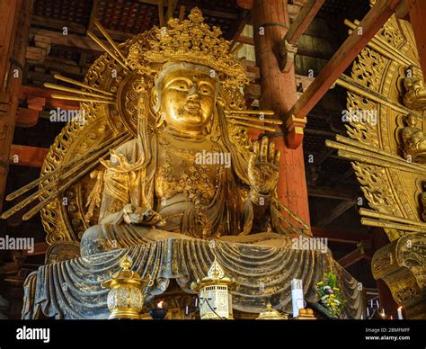
<svg viewBox="0 0 426 349"><path fill-rule="evenodd" d="M254 192L268 195L277 187L280 176L280 150L275 143L263 136L262 142L253 144L253 153L248 164L248 178Z"/></svg>

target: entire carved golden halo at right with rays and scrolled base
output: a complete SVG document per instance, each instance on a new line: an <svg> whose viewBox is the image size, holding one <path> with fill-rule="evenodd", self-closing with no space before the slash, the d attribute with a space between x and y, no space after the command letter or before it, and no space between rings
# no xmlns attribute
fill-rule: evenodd
<svg viewBox="0 0 426 349"><path fill-rule="evenodd" d="M359 24L345 23L351 30ZM374 209L360 210L368 217L361 222L384 228L391 241L373 256L373 276L386 282L409 318L424 318L426 236L419 200L426 174L424 112L410 109L418 108L422 100L422 84L414 86L417 90L410 95L407 90L415 82L406 77L413 65L419 66L413 29L394 15L361 51L351 77L341 76L337 82L349 90L348 110L375 111L376 119L349 119L350 139L337 137L327 145L353 161L362 192ZM413 114L411 122L407 122L409 114Z"/></svg>

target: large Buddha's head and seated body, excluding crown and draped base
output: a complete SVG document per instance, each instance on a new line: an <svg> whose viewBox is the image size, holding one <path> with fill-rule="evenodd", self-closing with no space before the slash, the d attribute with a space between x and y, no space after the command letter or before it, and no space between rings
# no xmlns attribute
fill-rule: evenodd
<svg viewBox="0 0 426 349"><path fill-rule="evenodd" d="M248 162L233 151L220 132L226 128L217 107L220 82L210 75L210 67L186 62L162 68L155 79L161 131L150 139L149 150L140 138L132 139L102 162L100 224L84 233L82 255L167 237L266 231L280 151L266 137L254 143Z"/></svg>

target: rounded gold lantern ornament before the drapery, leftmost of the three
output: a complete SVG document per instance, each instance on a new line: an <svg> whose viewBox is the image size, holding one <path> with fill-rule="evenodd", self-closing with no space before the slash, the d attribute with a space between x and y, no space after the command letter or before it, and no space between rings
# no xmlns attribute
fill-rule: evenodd
<svg viewBox="0 0 426 349"><path fill-rule="evenodd" d="M103 288L111 289L107 300L108 309L111 311L109 319L140 318L139 313L145 300L142 290L148 282L130 270L131 264L131 259L128 256L124 257L120 262L122 270L112 274L110 280L102 282Z"/></svg>

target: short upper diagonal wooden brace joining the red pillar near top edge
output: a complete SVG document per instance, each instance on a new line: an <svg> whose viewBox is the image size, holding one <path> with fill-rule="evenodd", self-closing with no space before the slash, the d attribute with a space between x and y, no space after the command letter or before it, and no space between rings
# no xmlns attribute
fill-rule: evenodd
<svg viewBox="0 0 426 349"><path fill-rule="evenodd" d="M324 0L307 0L283 40L296 44L323 4Z"/></svg>

